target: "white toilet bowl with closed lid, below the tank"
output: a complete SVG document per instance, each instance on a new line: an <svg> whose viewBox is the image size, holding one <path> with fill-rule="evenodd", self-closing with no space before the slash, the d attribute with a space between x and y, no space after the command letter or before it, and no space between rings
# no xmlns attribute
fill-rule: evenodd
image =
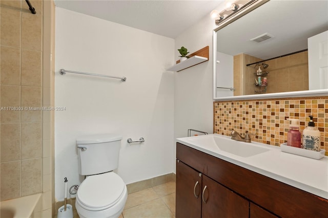
<svg viewBox="0 0 328 218"><path fill-rule="evenodd" d="M127 186L111 171L88 176L78 188L75 206L80 218L117 218L127 198Z"/></svg>

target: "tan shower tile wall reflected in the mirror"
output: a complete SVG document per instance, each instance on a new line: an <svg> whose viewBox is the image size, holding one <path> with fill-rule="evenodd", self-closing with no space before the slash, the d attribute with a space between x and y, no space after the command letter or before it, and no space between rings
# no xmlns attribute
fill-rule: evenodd
<svg viewBox="0 0 328 218"><path fill-rule="evenodd" d="M234 56L235 96L252 95L254 91L259 91L259 88L263 90L263 87L254 85L254 79L256 78L254 72L258 70L258 66L256 68L256 64L246 66L248 63L254 63L260 60L248 54ZM266 76L268 78L266 93L309 90L308 51L268 60L265 63L269 64L269 67L263 69L261 66L261 69L269 72Z"/></svg>

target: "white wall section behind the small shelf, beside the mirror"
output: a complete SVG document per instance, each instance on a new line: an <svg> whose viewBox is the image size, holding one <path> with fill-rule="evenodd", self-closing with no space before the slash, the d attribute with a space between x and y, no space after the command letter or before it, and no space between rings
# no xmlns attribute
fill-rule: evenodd
<svg viewBox="0 0 328 218"><path fill-rule="evenodd" d="M222 11L222 7L218 11ZM175 38L175 51L184 46L193 53L210 46L209 61L175 73L175 138L186 137L189 128L213 133L213 29L214 19L203 17ZM178 59L178 53L175 53Z"/></svg>

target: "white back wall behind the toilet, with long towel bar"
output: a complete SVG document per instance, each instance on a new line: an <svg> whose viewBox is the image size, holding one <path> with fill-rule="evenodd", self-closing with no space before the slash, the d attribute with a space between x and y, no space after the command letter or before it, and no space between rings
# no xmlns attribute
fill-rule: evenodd
<svg viewBox="0 0 328 218"><path fill-rule="evenodd" d="M55 54L56 72L63 68L127 77L121 82L56 73L55 105L66 107L55 112L58 201L64 199L64 177L69 187L83 180L75 144L81 135L123 137L117 173L127 184L174 170L174 73L165 71L174 63L172 38L56 8ZM127 143L140 137L146 142Z"/></svg>

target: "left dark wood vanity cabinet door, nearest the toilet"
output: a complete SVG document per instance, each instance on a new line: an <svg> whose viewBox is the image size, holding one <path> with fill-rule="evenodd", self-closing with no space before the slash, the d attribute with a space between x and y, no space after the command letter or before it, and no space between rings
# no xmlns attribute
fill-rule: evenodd
<svg viewBox="0 0 328 218"><path fill-rule="evenodd" d="M176 218L199 218L201 215L201 174L176 162Z"/></svg>

